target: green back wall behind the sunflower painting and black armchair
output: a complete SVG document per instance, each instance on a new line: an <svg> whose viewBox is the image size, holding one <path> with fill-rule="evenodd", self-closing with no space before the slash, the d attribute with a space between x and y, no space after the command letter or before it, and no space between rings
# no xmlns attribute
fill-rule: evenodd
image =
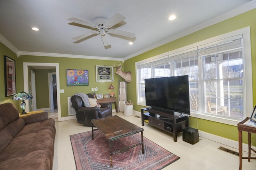
<svg viewBox="0 0 256 170"><path fill-rule="evenodd" d="M114 74L114 82L96 82L96 65L112 66L116 61L96 60L96 59L75 59L65 57L45 57L45 56L21 56L18 59L17 76L23 77L23 63L58 63L60 72L60 89L64 93L60 93L61 117L68 116L68 97L75 93L90 93L91 88L98 87L98 92L109 94L108 87L112 83L115 87L116 97L118 96L118 80L124 81L120 76ZM67 69L88 70L89 86L67 86ZM39 108L47 108L49 106L48 95L48 72L49 70L35 70L36 72L36 103ZM115 72L115 69L114 69ZM38 80L39 79L39 80ZM23 79L20 80L20 88L24 88ZM38 85L40 84L40 86ZM39 87L38 87L39 86ZM38 97L40 96L40 97ZM115 108L112 105L113 109Z"/></svg>

